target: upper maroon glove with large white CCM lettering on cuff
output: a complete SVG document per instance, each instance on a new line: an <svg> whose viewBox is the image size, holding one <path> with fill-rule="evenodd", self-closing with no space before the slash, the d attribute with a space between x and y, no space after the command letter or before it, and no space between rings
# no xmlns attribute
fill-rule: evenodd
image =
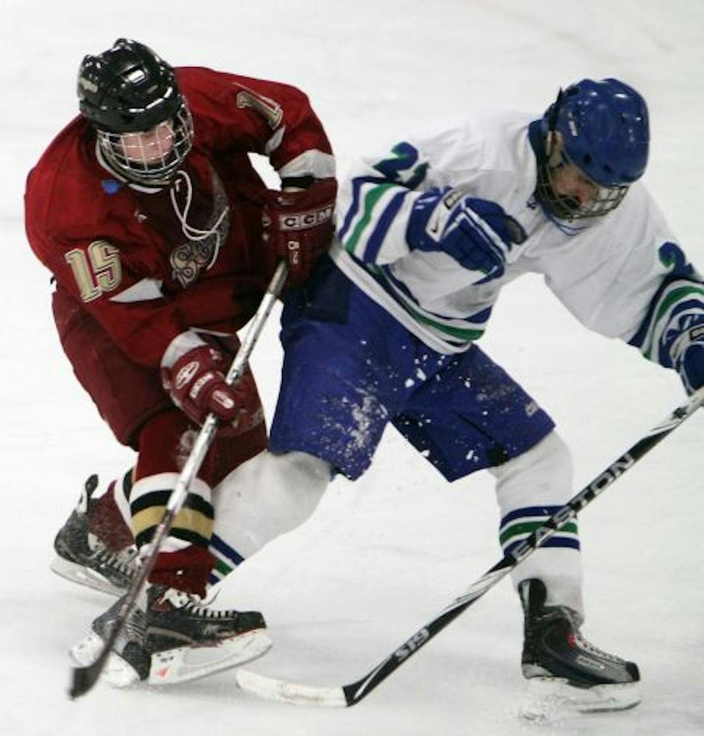
<svg viewBox="0 0 704 736"><path fill-rule="evenodd" d="M289 265L288 286L306 279L330 247L337 182L320 179L300 191L270 191L264 206L264 243L270 269L284 259Z"/></svg>

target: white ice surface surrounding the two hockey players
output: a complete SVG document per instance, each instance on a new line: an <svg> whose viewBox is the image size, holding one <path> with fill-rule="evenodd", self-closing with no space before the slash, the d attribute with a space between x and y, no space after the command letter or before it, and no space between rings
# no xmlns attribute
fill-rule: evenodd
<svg viewBox="0 0 704 736"><path fill-rule="evenodd" d="M351 710L256 701L233 673L158 692L99 685L66 696L66 650L108 598L49 572L52 539L89 472L117 447L71 375L50 316L49 277L24 239L24 178L74 115L83 54L126 35L175 64L305 89L344 171L356 152L479 107L542 110L558 86L616 76L650 102L646 180L683 246L704 263L704 4L696 0L2 0L4 303L0 407L0 729L13 736L677 736L704 732L704 414L587 509L585 633L636 659L629 712L518 719L521 616L504 581ZM502 297L485 349L551 411L590 481L682 399L675 375L588 333L529 277ZM254 367L270 412L275 325ZM338 481L315 517L239 570L227 595L255 606L275 646L261 673L352 682L499 559L490 479L446 484L393 433L358 484Z"/></svg>

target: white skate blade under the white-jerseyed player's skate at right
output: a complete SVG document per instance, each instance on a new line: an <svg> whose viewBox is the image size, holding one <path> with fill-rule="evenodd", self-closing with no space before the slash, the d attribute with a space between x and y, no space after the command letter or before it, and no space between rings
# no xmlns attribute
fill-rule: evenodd
<svg viewBox="0 0 704 736"><path fill-rule="evenodd" d="M533 677L518 712L529 721L549 721L564 713L594 713L635 708L640 703L637 682L574 687L566 679Z"/></svg>

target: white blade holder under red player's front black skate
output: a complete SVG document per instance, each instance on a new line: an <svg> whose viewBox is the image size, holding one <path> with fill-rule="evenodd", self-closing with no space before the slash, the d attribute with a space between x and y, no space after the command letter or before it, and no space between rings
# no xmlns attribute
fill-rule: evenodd
<svg viewBox="0 0 704 736"><path fill-rule="evenodd" d="M270 650L265 629L255 629L207 647L179 647L152 654L149 684L189 682L252 662Z"/></svg>

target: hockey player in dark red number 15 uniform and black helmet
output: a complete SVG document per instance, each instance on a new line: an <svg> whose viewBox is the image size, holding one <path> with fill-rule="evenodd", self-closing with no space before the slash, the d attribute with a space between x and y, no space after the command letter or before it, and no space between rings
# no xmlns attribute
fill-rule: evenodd
<svg viewBox="0 0 704 736"><path fill-rule="evenodd" d="M124 590L130 545L148 545L194 431L213 412L219 435L135 609L146 623L127 627L133 640L108 668L117 684L156 670L168 682L177 665L161 665L179 661L184 641L217 641L223 666L268 645L258 613L213 618L197 598L214 564L211 488L266 445L253 376L228 386L224 375L278 261L295 285L327 250L334 158L298 89L172 68L133 40L85 57L78 96L80 116L29 174L27 236L52 272L54 318L78 380L138 457L100 498L89 478L57 536L54 569ZM264 185L250 154L268 156L281 191ZM78 663L95 657L118 605L74 647Z"/></svg>

